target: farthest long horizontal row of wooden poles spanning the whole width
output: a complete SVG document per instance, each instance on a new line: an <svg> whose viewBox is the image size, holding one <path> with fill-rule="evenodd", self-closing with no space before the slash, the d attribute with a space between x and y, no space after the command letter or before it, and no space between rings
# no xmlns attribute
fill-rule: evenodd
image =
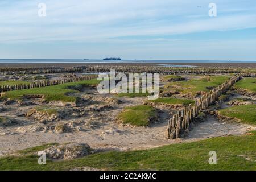
<svg viewBox="0 0 256 182"><path fill-rule="evenodd" d="M125 65L88 65L72 68L61 67L31 67L31 68L0 68L0 75L18 74L42 74L65 72L115 72L122 73L159 73L159 74L210 74L210 73L240 73L239 68L234 67L159 67L159 66L125 66ZM242 69L245 69L242 67ZM247 68L251 69L251 68Z"/></svg>

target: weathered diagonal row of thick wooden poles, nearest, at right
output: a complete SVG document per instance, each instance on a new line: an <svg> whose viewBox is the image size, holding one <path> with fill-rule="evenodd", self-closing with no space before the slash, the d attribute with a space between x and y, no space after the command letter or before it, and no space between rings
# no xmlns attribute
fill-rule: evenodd
<svg viewBox="0 0 256 182"><path fill-rule="evenodd" d="M230 80L210 90L207 94L196 99L195 104L189 104L183 109L177 111L168 121L167 137L170 139L179 138L184 130L188 129L189 125L200 113L207 109L213 102L218 100L221 94L228 91L232 85L242 78L242 75L233 76Z"/></svg>

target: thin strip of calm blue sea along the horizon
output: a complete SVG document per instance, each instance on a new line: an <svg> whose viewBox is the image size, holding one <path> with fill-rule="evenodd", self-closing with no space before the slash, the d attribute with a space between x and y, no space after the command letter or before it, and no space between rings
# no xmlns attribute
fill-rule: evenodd
<svg viewBox="0 0 256 182"><path fill-rule="evenodd" d="M0 63L256 63L213 60L97 60L97 59L0 59Z"/></svg>

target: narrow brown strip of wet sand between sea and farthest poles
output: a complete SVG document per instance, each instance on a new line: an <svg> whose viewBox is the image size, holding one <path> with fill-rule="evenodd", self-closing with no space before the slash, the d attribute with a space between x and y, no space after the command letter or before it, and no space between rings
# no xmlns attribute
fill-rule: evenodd
<svg viewBox="0 0 256 182"><path fill-rule="evenodd" d="M115 65L115 66L158 66L166 65L191 65L199 67L256 67L256 63L0 63L0 68L26 68L26 67L63 67L71 68L86 65Z"/></svg>

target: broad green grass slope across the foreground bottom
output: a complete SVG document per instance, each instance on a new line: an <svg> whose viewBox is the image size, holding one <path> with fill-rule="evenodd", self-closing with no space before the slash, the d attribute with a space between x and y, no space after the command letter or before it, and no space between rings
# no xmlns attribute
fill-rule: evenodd
<svg viewBox="0 0 256 182"><path fill-rule="evenodd" d="M75 160L47 160L46 165L38 164L38 156L8 156L0 158L0 170L256 170L255 134L254 131L252 135L210 138L150 150L102 152ZM209 151L217 152L217 165L208 163Z"/></svg>

